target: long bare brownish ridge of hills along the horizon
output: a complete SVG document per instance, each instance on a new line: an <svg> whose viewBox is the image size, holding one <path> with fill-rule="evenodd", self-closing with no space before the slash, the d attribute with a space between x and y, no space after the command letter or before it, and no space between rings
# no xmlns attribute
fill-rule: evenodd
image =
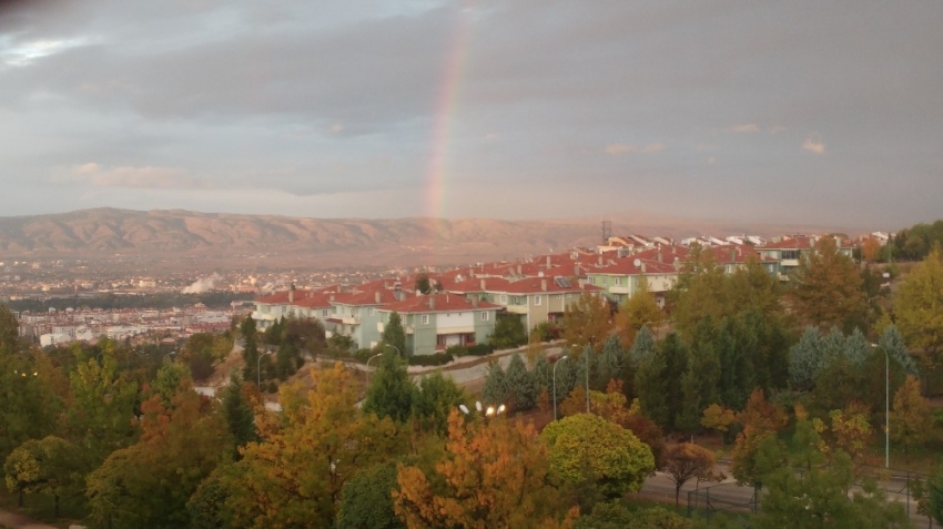
<svg viewBox="0 0 943 529"><path fill-rule="evenodd" d="M324 220L97 208L0 217L0 256L120 255L152 257L168 266L179 262L192 267L199 262L226 268L258 266L263 262L270 267L465 264L595 245L601 238L601 220ZM760 228L670 217L612 220L614 234L726 235L759 233ZM770 228L765 226L765 231Z"/></svg>

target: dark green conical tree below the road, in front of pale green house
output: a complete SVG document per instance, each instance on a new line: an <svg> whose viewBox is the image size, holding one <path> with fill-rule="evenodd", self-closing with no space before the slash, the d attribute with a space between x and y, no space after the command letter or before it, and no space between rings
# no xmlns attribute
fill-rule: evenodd
<svg viewBox="0 0 943 529"><path fill-rule="evenodd" d="M367 386L364 411L406 423L413 413L415 398L416 385L406 370L406 360L395 353L384 353Z"/></svg>

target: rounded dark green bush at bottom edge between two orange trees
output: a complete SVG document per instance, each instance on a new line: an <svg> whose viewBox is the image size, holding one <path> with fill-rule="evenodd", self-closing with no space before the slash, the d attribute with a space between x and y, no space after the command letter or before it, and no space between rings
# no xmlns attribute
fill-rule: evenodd
<svg viewBox="0 0 943 529"><path fill-rule="evenodd" d="M344 485L337 510L338 529L405 529L393 510L397 462L387 461L356 474Z"/></svg>

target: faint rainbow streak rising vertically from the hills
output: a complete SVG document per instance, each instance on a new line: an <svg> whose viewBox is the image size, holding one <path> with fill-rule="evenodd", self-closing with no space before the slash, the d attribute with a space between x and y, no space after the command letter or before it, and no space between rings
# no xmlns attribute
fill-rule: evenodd
<svg viewBox="0 0 943 529"><path fill-rule="evenodd" d="M470 6L470 1L464 2ZM433 226L438 218L445 217L446 176L448 174L447 157L449 145L449 129L455 108L459 100L462 74L468 45L469 22L466 13L459 10L458 27L446 55L445 74L436 102L433 136L429 149L428 166L426 167L426 216ZM433 233L436 233L434 230Z"/></svg>

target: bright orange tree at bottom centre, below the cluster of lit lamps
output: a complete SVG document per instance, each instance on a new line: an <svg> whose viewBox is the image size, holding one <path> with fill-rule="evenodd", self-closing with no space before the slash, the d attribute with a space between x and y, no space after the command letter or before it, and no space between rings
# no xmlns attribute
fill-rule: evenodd
<svg viewBox="0 0 943 529"><path fill-rule="evenodd" d="M400 466L396 515L409 529L559 527L567 507L547 484L547 448L533 425L499 417L468 420L453 409L434 469Z"/></svg>

